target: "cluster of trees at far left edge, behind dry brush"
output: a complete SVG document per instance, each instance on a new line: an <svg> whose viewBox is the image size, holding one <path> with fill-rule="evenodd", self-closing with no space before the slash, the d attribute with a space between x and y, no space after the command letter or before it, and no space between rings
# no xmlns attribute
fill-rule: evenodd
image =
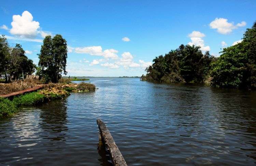
<svg viewBox="0 0 256 166"><path fill-rule="evenodd" d="M25 78L35 72L35 65L25 55L20 44L10 47L4 35L0 36L0 76L5 82Z"/></svg>

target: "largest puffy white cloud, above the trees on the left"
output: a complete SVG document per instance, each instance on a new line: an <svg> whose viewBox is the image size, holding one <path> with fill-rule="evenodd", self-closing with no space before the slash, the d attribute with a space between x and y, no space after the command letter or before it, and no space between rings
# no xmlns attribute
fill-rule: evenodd
<svg viewBox="0 0 256 166"><path fill-rule="evenodd" d="M32 14L28 11L24 11L21 16L13 15L12 19L12 28L10 29L12 35L32 39L38 34L42 37L49 34L41 30L39 22L34 21Z"/></svg>

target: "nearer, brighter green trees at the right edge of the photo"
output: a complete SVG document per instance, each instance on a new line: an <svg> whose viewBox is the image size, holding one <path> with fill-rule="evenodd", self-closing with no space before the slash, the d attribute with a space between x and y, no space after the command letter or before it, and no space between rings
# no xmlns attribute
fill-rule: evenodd
<svg viewBox="0 0 256 166"><path fill-rule="evenodd" d="M243 41L224 48L212 64L212 86L256 88L256 26L247 29Z"/></svg>

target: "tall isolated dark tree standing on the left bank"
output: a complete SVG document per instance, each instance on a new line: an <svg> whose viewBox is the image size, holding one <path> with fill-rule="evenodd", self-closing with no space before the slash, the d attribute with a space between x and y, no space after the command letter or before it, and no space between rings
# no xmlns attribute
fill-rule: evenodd
<svg viewBox="0 0 256 166"><path fill-rule="evenodd" d="M41 74L46 82L57 82L61 78L62 72L67 74L67 52L67 42L61 35L57 34L53 38L45 37L38 55L38 65L41 67Z"/></svg>

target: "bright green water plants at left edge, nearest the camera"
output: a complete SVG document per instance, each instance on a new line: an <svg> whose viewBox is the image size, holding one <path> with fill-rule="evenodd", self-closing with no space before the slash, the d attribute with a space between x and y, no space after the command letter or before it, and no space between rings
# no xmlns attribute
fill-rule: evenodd
<svg viewBox="0 0 256 166"><path fill-rule="evenodd" d="M17 107L13 102L9 99L0 97L0 118L12 115L17 111Z"/></svg>

